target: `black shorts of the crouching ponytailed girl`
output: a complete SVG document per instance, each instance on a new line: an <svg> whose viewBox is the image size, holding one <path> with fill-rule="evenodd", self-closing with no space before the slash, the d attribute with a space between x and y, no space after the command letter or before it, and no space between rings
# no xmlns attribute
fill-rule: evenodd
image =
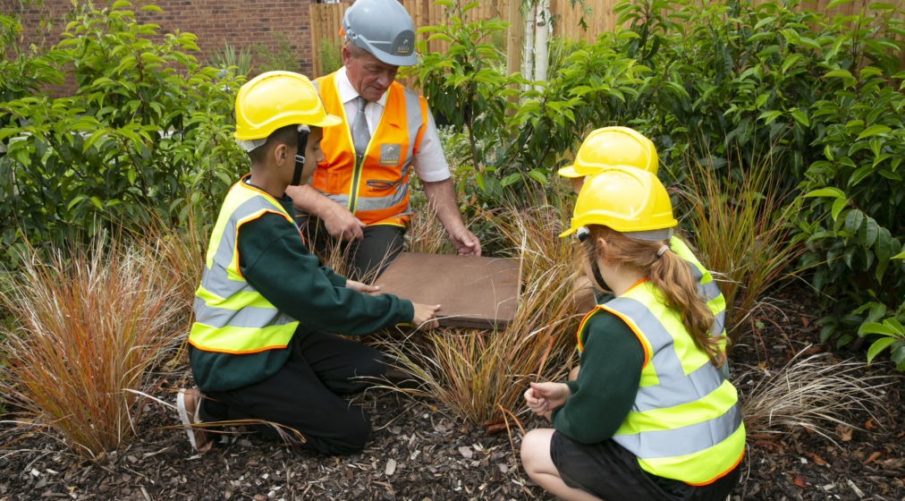
<svg viewBox="0 0 905 501"><path fill-rule="evenodd" d="M568 487L606 501L724 501L738 483L741 462L707 486L690 486L647 473L631 452L611 440L582 444L558 431L550 440L550 458Z"/></svg>

